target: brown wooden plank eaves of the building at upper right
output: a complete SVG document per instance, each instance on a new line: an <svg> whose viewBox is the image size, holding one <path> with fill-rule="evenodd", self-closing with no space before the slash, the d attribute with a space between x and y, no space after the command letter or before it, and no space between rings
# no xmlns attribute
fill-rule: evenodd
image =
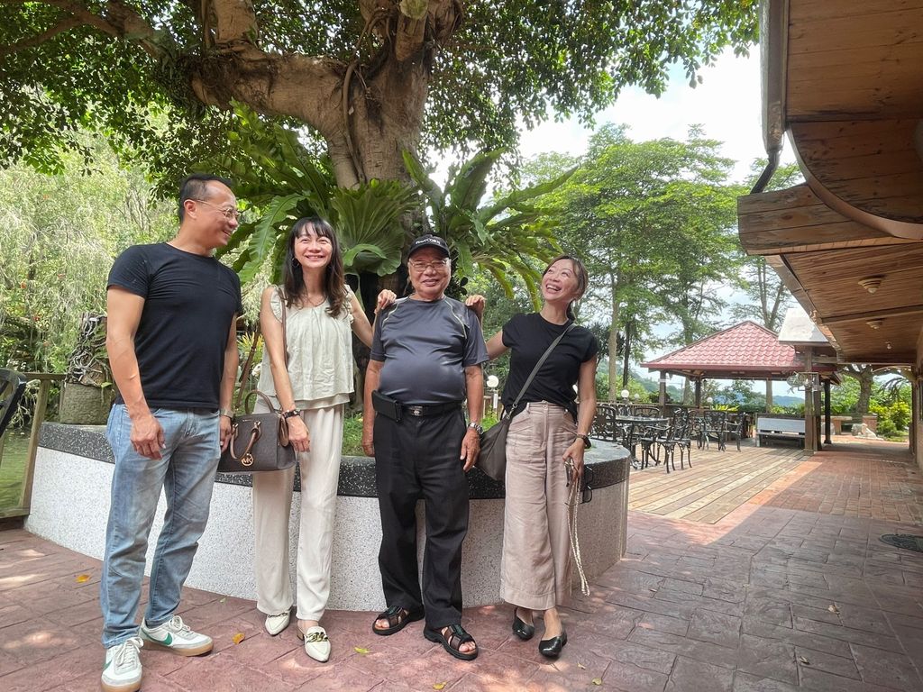
<svg viewBox="0 0 923 692"><path fill-rule="evenodd" d="M768 12L774 125L807 185L740 197L741 243L767 257L841 360L917 364L923 0L768 0ZM873 293L859 284L871 277Z"/></svg>

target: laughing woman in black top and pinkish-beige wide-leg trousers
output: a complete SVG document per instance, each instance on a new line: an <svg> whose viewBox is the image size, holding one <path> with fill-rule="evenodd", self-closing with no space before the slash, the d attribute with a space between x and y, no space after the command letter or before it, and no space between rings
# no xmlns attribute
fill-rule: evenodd
<svg viewBox="0 0 923 692"><path fill-rule="evenodd" d="M579 259L557 257L542 275L542 309L514 316L487 341L491 359L511 351L504 406L512 405L542 354L573 322L572 305L587 281ZM479 314L484 310L481 296L472 296L468 304ZM500 595L515 606L512 629L523 641L535 633L534 612L544 612L545 636L538 650L548 658L557 658L568 640L557 613L570 583L566 464L572 462L576 471L571 482L580 483L596 411L598 352L589 329L570 329L522 396L507 436Z"/></svg>

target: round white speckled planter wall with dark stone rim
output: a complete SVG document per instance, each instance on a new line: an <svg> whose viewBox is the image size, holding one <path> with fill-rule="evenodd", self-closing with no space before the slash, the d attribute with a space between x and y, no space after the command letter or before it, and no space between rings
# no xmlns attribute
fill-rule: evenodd
<svg viewBox="0 0 923 692"><path fill-rule="evenodd" d="M625 555L629 453L593 441L586 463L593 468L593 501L580 506L578 533L588 579L600 576ZM102 559L109 512L113 457L101 425L42 424L35 460L31 513L26 529L84 555ZM197 589L256 599L253 575L251 477L218 474L209 525L199 542L186 584ZM300 490L297 474L295 492ZM465 605L499 602L503 541L502 483L481 471L468 474L471 519L462 557ZM375 461L344 457L340 467L333 536L331 609L378 611L385 607L378 572L381 541ZM298 534L298 498L292 503L292 575ZM161 531L163 498L150 533L148 564ZM423 525L424 503L417 503ZM424 535L418 535L422 550ZM421 560L422 561L422 560ZM575 570L576 571L576 570Z"/></svg>

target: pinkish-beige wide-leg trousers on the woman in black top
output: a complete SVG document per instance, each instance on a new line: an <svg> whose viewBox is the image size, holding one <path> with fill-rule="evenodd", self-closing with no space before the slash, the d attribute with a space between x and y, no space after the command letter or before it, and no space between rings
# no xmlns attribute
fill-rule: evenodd
<svg viewBox="0 0 923 692"><path fill-rule="evenodd" d="M567 471L561 459L577 426L562 407L541 401L513 418L507 435L507 499L500 597L548 610L570 584Z"/></svg>

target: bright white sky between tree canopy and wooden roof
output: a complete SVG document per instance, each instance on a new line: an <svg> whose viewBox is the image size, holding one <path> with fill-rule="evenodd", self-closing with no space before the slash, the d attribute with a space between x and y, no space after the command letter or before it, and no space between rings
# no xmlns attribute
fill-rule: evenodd
<svg viewBox="0 0 923 692"><path fill-rule="evenodd" d="M624 89L615 105L598 113L595 126L629 125L629 137L643 141L661 137L685 139L690 125L702 125L707 137L724 143L721 153L737 161L732 177L743 181L749 174L750 163L766 156L762 144L759 50L752 50L748 57L726 51L713 66L701 70L701 78L702 83L692 89L683 71L677 69L659 98L641 89ZM581 125L576 119L546 122L521 133L521 153L525 158L547 151L579 156L585 152L592 132L592 127ZM787 142L781 162L795 162ZM653 358L664 352L646 355ZM729 383L722 381L722 384ZM765 385L754 383L754 389L764 392ZM773 394L797 396L799 392L791 391L785 382L776 382Z"/></svg>

